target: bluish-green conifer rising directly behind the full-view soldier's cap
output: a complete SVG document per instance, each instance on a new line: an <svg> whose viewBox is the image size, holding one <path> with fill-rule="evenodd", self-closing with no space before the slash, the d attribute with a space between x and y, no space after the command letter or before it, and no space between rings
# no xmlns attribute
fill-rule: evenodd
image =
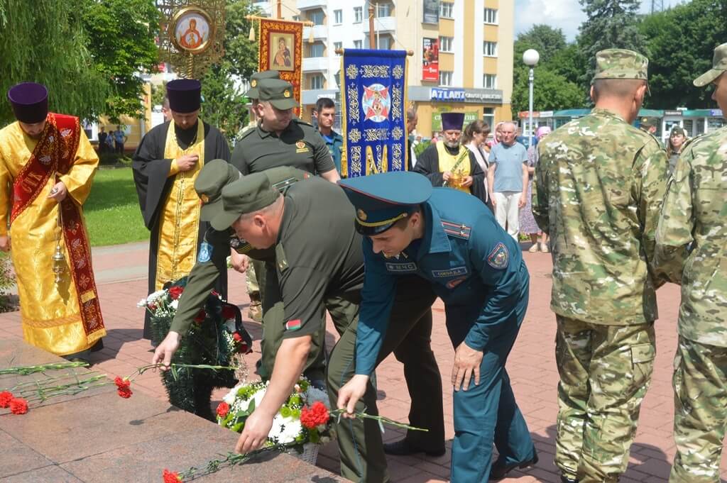
<svg viewBox="0 0 727 483"><path fill-rule="evenodd" d="M603 49L630 49L646 54L638 29L640 0L579 0L587 19L578 36L580 55L587 60L582 83L595 73L595 54Z"/></svg>

